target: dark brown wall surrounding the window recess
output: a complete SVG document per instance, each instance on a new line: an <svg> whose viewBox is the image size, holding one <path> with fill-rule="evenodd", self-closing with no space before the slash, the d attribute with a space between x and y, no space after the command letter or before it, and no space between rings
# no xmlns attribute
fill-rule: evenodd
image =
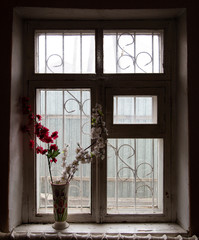
<svg viewBox="0 0 199 240"><path fill-rule="evenodd" d="M0 175L0 230L9 230L9 216L14 213L8 214L8 205L11 204L8 198L8 178L12 175L14 169L9 166L12 163L10 148L10 139L13 136L11 133L10 123L11 111L15 106L15 103L10 104L11 100L11 43L12 43L12 11L15 6L31 6L31 7L63 7L63 8L187 8L187 35L188 35L188 123L189 123L189 187L190 187L190 225L191 231L194 234L199 234L199 205L198 205L198 190L199 184L198 172L199 172L199 160L198 160L198 117L197 106L199 96L199 81L198 81L198 9L196 7L196 0L173 0L173 1L96 1L95 3L90 0L85 1L62 1L62 0L10 0L3 1L1 5L1 23L3 29L3 35L1 37L1 149L2 155L0 158L1 175ZM13 83L12 83L13 84ZM14 88L13 88L14 89ZM18 89L16 89L18 90ZM15 117L13 119L16 119ZM12 130L13 131L13 130ZM15 130L16 131L16 130ZM11 133L11 136L10 136ZM15 140L16 142L16 140ZM14 144L11 144L14 147ZM14 155L14 152L12 153ZM15 158L15 164L18 164L17 157ZM186 166L187 167L187 166ZM14 165L13 165L14 168ZM18 176L20 172L17 173ZM20 189L19 183L16 182L15 187ZM11 185L10 185L11 187ZM21 191L21 190L19 190ZM12 188L9 190L12 192ZM15 204L20 207L20 201ZM12 207L9 209L13 211ZM19 216L20 218L20 216Z"/></svg>

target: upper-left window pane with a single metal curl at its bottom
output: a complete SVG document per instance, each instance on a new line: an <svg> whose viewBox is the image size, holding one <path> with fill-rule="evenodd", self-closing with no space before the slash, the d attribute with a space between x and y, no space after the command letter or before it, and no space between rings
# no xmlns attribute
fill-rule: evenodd
<svg viewBox="0 0 199 240"><path fill-rule="evenodd" d="M35 73L95 73L95 32L35 34Z"/></svg>

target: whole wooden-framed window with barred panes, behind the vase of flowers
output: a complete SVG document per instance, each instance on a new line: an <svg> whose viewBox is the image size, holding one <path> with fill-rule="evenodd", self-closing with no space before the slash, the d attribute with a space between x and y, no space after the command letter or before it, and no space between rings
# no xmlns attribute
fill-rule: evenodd
<svg viewBox="0 0 199 240"><path fill-rule="evenodd" d="M172 31L168 21L28 22L28 94L58 145L91 142L98 102L109 131L106 158L80 166L69 190L73 222L170 221ZM48 168L25 152L25 217L53 221ZM61 158L61 156L60 156ZM61 164L53 167L59 176ZM35 171L31 171L35 169Z"/></svg>

